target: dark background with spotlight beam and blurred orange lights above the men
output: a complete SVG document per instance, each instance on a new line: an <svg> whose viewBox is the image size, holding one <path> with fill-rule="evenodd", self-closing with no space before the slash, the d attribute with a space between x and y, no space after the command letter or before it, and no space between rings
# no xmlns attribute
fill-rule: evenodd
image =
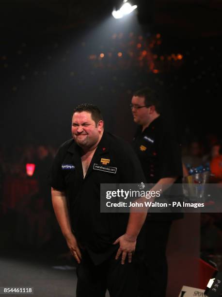
<svg viewBox="0 0 222 297"><path fill-rule="evenodd" d="M136 14L114 19L103 1L3 2L2 145L60 144L81 102L100 106L107 129L130 140L128 104L146 85L182 138L220 133L221 7L210 3L146 4L139 24Z"/></svg>

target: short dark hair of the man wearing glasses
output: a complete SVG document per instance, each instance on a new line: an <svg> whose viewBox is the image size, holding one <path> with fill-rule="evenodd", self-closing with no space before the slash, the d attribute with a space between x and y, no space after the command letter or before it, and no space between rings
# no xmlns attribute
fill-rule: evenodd
<svg viewBox="0 0 222 297"><path fill-rule="evenodd" d="M159 100L159 96L156 91L149 87L145 87L143 89L140 89L136 92L134 92L133 96L136 97L144 97L145 98L145 105L154 105L156 108L156 111L160 113L161 111L161 102Z"/></svg>

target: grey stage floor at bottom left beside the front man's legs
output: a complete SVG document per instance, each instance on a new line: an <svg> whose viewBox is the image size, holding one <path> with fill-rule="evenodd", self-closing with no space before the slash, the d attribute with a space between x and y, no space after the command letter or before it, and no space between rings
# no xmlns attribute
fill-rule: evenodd
<svg viewBox="0 0 222 297"><path fill-rule="evenodd" d="M76 297L75 263L57 255L0 251L0 267L0 287L33 287L34 297Z"/></svg>

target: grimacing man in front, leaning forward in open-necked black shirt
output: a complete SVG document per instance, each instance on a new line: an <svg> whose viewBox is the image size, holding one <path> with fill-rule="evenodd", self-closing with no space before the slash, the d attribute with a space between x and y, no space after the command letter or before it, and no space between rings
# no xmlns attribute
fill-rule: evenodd
<svg viewBox="0 0 222 297"><path fill-rule="evenodd" d="M99 196L100 183L143 182L140 162L126 142L104 132L95 105L75 109L72 136L55 157L50 184L57 220L78 262L77 297L104 297L107 288L111 297L136 297L132 253L146 214L100 213Z"/></svg>

